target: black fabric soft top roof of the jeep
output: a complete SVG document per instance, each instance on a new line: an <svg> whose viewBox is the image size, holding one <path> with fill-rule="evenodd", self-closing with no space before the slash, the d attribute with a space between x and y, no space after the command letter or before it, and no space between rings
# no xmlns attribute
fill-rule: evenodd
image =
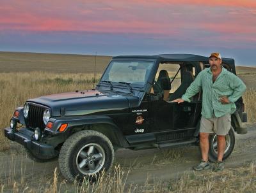
<svg viewBox="0 0 256 193"><path fill-rule="evenodd" d="M209 57L195 54L118 55L113 59L157 59L160 62L203 62L209 64ZM222 62L228 64L232 72L236 74L234 59L222 58Z"/></svg>

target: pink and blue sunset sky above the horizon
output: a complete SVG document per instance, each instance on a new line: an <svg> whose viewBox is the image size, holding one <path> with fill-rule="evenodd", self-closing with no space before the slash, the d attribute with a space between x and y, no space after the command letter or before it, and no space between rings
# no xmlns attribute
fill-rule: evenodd
<svg viewBox="0 0 256 193"><path fill-rule="evenodd" d="M256 1L0 0L0 51L220 52L256 66Z"/></svg>

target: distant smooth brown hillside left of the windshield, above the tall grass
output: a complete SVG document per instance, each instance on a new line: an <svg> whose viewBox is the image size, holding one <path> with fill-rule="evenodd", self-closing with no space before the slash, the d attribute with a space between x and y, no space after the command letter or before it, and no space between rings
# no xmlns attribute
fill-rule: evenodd
<svg viewBox="0 0 256 193"><path fill-rule="evenodd" d="M96 57L96 72L102 73L110 56ZM0 73L47 71L54 73L94 73L95 55L0 52Z"/></svg>

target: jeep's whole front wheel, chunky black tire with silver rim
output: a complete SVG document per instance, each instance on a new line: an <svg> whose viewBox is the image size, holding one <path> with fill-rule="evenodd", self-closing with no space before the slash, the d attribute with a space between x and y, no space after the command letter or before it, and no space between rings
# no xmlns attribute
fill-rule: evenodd
<svg viewBox="0 0 256 193"><path fill-rule="evenodd" d="M59 166L62 175L70 182L97 178L101 171L113 165L114 148L102 133L84 130L70 136L60 150Z"/></svg>

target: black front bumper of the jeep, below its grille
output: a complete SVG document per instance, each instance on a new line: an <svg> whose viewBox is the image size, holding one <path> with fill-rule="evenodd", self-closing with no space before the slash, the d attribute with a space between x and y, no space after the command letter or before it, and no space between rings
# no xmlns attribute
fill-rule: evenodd
<svg viewBox="0 0 256 193"><path fill-rule="evenodd" d="M4 129L4 136L12 141L20 143L25 148L28 148L33 154L45 157L45 159L56 157L56 155L58 155L52 145L33 141L33 132L26 127L17 132L14 132L10 127L7 127Z"/></svg>

